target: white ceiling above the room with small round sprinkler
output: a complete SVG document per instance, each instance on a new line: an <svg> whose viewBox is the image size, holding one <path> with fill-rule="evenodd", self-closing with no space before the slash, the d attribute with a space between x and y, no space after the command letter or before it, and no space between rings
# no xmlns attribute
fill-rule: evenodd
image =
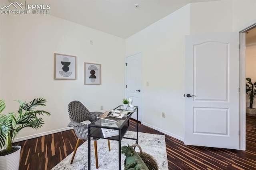
<svg viewBox="0 0 256 170"><path fill-rule="evenodd" d="M50 4L52 16L128 38L186 4L206 1L218 0L26 0L26 4Z"/></svg>

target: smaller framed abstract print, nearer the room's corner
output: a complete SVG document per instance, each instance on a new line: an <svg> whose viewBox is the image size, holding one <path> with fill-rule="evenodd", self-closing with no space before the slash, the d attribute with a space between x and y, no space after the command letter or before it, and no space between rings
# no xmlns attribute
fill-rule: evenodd
<svg viewBox="0 0 256 170"><path fill-rule="evenodd" d="M100 64L84 63L84 84L100 85Z"/></svg>

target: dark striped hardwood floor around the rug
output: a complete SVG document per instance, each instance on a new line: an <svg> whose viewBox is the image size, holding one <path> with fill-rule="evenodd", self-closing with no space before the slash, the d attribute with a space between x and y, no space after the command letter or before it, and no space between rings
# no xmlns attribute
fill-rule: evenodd
<svg viewBox="0 0 256 170"><path fill-rule="evenodd" d="M129 130L136 130L135 122ZM162 134L141 124L139 132ZM246 151L186 146L168 135L165 139L169 170L256 170L255 117L246 118ZM76 140L74 131L67 130L14 143L22 146L19 170L50 170L73 152Z"/></svg>

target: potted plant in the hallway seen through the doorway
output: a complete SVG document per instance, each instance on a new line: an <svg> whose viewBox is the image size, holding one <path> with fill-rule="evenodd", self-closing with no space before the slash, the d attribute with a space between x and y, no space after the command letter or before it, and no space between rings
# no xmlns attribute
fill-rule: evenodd
<svg viewBox="0 0 256 170"><path fill-rule="evenodd" d="M250 100L250 107L246 108L246 115L247 116L256 116L256 108L252 108L253 100L256 95L256 82L252 84L251 78L246 78L246 94Z"/></svg>

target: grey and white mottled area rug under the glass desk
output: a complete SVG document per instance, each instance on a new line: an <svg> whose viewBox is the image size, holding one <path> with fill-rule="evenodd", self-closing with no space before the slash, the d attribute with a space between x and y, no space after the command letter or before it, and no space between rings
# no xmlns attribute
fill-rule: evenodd
<svg viewBox="0 0 256 170"><path fill-rule="evenodd" d="M126 137L136 138L136 132L127 131ZM108 140L97 140L98 148L98 165L95 165L94 142L91 142L91 170L118 170L118 141L110 140L110 148L108 150ZM121 146L132 145L136 141L130 139L122 139ZM138 144L143 152L152 155L158 162L160 170L168 170L168 160L166 154L166 144L164 135L147 134L138 132ZM139 148L135 149L139 152ZM52 170L88 170L88 143L84 142L76 151L73 164L70 164L73 152L68 155L59 164L54 166ZM124 165L125 156L122 154L122 167Z"/></svg>

